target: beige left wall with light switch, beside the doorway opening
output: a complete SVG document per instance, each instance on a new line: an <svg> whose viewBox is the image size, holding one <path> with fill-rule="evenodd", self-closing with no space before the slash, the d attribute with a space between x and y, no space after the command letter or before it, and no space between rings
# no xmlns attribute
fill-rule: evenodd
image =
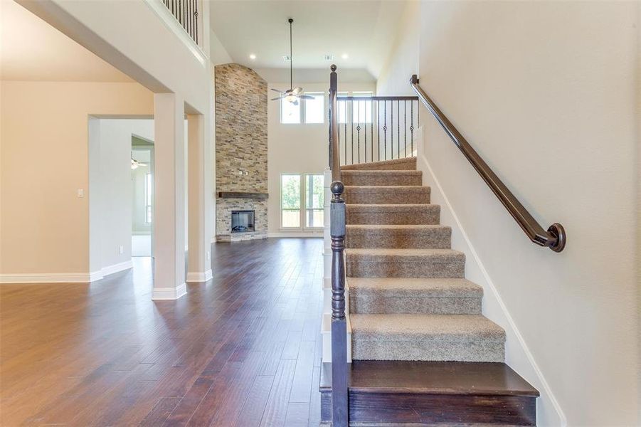
<svg viewBox="0 0 641 427"><path fill-rule="evenodd" d="M88 273L89 115L153 115L152 93L137 83L0 89L0 272Z"/></svg>

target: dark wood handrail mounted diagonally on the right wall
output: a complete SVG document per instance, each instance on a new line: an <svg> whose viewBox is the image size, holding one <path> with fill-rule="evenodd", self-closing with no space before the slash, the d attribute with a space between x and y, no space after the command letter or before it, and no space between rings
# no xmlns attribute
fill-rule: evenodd
<svg viewBox="0 0 641 427"><path fill-rule="evenodd" d="M550 248L554 252L561 252L566 246L566 231L560 223L553 223L548 230L539 224L527 209L516 199L516 196L509 191L507 186L494 174L492 169L485 163L475 149L472 148L467 139L452 125L452 122L445 117L443 112L437 107L433 100L418 85L418 77L412 75L410 84L418 95L423 105L432 113L447 136L460 149L465 158L472 164L472 167L480 174L481 178L499 198L499 201L505 206L512 218L523 229L528 238L539 246Z"/></svg>

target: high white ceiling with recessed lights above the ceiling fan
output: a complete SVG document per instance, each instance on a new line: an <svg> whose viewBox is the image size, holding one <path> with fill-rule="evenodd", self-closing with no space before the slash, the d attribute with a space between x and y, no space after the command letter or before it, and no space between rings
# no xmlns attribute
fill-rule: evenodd
<svg viewBox="0 0 641 427"><path fill-rule="evenodd" d="M313 70L316 74L318 70L329 73L332 63L338 66L339 73L341 69L354 70L351 72L354 80L376 80L398 31L405 3L213 0L211 26L235 63L283 81L289 80L290 64L282 56L290 51L287 19L292 17L295 80L298 75L309 81ZM249 58L251 53L255 54L255 60ZM344 53L349 58L341 58ZM334 60L324 60L325 54L333 55Z"/></svg>

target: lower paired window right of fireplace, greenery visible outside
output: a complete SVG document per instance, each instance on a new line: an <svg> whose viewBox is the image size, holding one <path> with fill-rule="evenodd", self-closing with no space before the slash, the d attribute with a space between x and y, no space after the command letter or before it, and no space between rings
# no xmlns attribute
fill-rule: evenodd
<svg viewBox="0 0 641 427"><path fill-rule="evenodd" d="M324 225L322 174L280 176L280 225L282 228L321 228ZM304 209L302 209L304 206Z"/></svg>

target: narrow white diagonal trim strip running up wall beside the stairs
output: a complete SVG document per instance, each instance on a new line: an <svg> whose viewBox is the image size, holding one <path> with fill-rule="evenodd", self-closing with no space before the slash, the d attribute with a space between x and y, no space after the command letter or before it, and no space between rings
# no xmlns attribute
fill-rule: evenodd
<svg viewBox="0 0 641 427"><path fill-rule="evenodd" d="M423 130L420 130L420 132L423 132ZM424 144L424 140L419 141L419 143ZM445 191L443 191L443 187L440 185L440 182L436 178L436 175L434 174L434 170L432 169L430 162L428 162L428 159L425 157L425 152L419 152L419 154L420 155L417 156L418 161L423 162L425 164L425 167L427 167L428 172L430 173L431 179L436 185L436 188L438 189L440 196L443 196L445 207L447 208L448 211L450 211L450 214L452 215L452 218L455 221L455 226L460 231L468 251L470 251L470 253L472 254L472 258L474 258L474 262L477 264L485 282L487 283L489 290L492 292L492 297L494 297L494 299L498 302L499 307L502 310L503 315L505 316L505 319L508 322L510 330L512 330L514 337L516 337L517 341L519 342L521 350L525 354L527 362L529 362L531 369L534 371L534 374L536 374L536 377L539 380L539 383L541 384L541 386L543 387L546 396L548 397L552 406L554 407L554 410L556 411L559 421L561 421L560 426L562 427L567 426L568 422L565 414L563 413L563 409L561 408L561 405L558 404L556 397L554 396L552 390L550 389L548 381L546 381L543 372L539 368L539 365L536 364L534 355L532 355L532 353L530 352L530 349L527 346L525 339L523 338L523 335L521 335L521 332L519 332L519 328L516 327L516 323L514 322L512 315L509 314L509 310L507 310L507 306L503 302L501 295L499 295L499 291L497 290L496 286L494 286L494 282L492 281L492 278L489 277L489 273L487 273L487 269L485 268L480 256L478 255L476 249L474 248L472 241L470 241L470 237L467 236L467 233L465 232L465 228L462 226L462 223L460 222L454 208L452 207L452 204L450 204L450 199L447 199L447 196L445 195Z"/></svg>

